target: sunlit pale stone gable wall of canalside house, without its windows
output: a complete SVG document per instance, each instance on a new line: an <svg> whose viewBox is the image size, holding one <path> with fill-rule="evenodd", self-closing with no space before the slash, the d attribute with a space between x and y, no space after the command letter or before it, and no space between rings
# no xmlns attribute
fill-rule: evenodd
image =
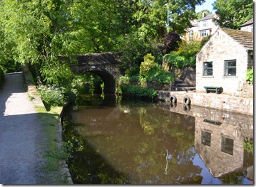
<svg viewBox="0 0 256 187"><path fill-rule="evenodd" d="M224 60L236 60L236 75L224 76ZM205 92L204 86L222 87L225 94L241 94L250 59L245 48L223 31L217 31L201 49L196 60L196 90ZM213 76L203 76L203 62L213 62Z"/></svg>

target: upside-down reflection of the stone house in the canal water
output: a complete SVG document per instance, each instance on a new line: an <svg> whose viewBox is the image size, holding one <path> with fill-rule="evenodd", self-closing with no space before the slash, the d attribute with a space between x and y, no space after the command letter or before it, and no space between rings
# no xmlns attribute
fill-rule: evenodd
<svg viewBox="0 0 256 187"><path fill-rule="evenodd" d="M243 142L253 138L252 120L252 116L211 109L205 109L205 117L195 117L195 149L213 176L245 165Z"/></svg>

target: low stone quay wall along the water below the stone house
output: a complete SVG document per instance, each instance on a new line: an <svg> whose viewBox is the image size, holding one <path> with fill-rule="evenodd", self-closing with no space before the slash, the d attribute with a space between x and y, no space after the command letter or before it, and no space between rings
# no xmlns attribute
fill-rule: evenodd
<svg viewBox="0 0 256 187"><path fill-rule="evenodd" d="M252 97L236 97L224 94L202 92L158 91L158 100L170 102L170 97L173 96L177 98L177 102L179 103L184 103L184 98L188 97L190 99L190 105L253 115Z"/></svg>

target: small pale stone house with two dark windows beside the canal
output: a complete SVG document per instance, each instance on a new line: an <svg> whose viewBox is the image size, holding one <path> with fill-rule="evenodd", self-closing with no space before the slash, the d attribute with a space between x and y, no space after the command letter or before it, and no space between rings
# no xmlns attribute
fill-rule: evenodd
<svg viewBox="0 0 256 187"><path fill-rule="evenodd" d="M219 28L196 55L196 91L222 87L228 95L253 95L245 81L253 66L253 32Z"/></svg>

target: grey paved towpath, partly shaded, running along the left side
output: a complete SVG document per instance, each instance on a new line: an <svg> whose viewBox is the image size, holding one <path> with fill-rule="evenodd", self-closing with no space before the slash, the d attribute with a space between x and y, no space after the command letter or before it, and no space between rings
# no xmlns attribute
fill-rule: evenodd
<svg viewBox="0 0 256 187"><path fill-rule="evenodd" d="M22 73L4 76L0 90L0 183L40 183L43 134Z"/></svg>

